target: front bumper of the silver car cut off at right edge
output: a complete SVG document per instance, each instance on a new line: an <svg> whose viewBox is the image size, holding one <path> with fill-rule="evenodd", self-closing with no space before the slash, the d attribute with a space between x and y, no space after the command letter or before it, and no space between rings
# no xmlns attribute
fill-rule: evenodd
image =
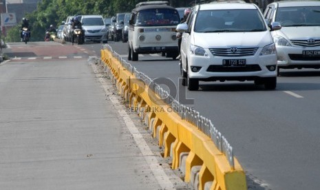
<svg viewBox="0 0 320 190"><path fill-rule="evenodd" d="M276 46L278 55L278 67L280 68L301 68L301 67L320 67L320 54L303 55L303 50L319 50L320 47L293 47L293 46Z"/></svg>

